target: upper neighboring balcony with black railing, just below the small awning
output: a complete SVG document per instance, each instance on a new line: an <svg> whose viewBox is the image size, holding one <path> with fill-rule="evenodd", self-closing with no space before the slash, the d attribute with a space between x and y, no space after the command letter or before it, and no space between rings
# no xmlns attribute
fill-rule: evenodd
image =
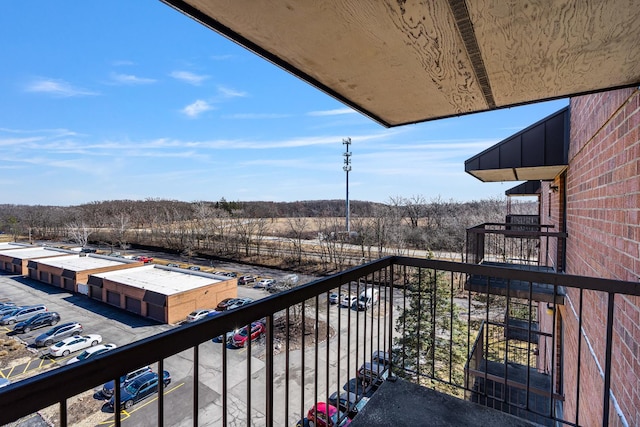
<svg viewBox="0 0 640 427"><path fill-rule="evenodd" d="M530 215L508 219L511 222L484 223L467 229L467 262L527 270L532 274L563 270L566 233L551 231L553 226L550 225L532 223ZM565 291L562 287L553 287L542 281L535 281L529 287L527 281L507 278L504 275L471 275L465 289L564 304Z"/></svg>

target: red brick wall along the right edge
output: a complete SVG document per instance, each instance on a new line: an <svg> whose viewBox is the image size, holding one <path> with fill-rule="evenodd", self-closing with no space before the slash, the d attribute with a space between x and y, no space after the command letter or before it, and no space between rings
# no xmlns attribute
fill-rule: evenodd
<svg viewBox="0 0 640 427"><path fill-rule="evenodd" d="M640 277L640 95L623 89L571 100L571 143L566 174L569 274L637 282ZM616 297L612 391L626 422L640 425L640 301ZM575 420L580 359L580 425L602 420L607 296L568 290L565 320L565 418ZM575 313L574 313L575 312ZM585 337L586 336L586 337ZM587 344L591 345L591 349ZM611 405L613 425L620 423Z"/></svg>

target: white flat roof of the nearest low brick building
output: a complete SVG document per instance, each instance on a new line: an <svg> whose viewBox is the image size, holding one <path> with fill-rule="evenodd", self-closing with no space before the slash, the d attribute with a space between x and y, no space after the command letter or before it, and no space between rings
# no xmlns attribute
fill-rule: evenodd
<svg viewBox="0 0 640 427"><path fill-rule="evenodd" d="M124 270L96 273L92 274L92 276L163 295L179 294L191 289L210 286L225 281L212 274L192 272L189 270L177 271L175 269L161 268L156 265L144 265Z"/></svg>

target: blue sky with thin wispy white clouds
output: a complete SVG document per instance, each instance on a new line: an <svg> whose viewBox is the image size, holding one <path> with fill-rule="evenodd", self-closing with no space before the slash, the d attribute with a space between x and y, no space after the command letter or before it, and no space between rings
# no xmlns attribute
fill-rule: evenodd
<svg viewBox="0 0 640 427"><path fill-rule="evenodd" d="M503 198L464 161L566 100L385 129L156 0L0 6L0 203Z"/></svg>

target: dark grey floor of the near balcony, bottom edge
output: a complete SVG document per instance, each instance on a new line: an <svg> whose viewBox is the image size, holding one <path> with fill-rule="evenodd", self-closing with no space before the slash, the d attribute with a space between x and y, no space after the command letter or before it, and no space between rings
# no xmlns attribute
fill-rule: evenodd
<svg viewBox="0 0 640 427"><path fill-rule="evenodd" d="M364 426L492 426L531 427L530 423L495 409L458 399L398 378L385 381L352 427Z"/></svg>

